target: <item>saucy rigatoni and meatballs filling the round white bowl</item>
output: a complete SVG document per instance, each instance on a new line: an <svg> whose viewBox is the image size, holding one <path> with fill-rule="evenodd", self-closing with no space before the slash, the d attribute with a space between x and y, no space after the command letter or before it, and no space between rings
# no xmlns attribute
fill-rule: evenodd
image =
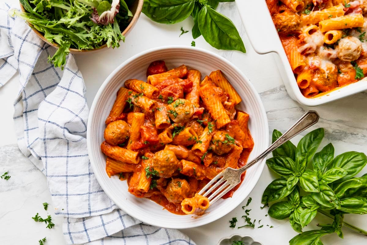
<svg viewBox="0 0 367 245"><path fill-rule="evenodd" d="M129 79L117 91L105 121L108 176L172 213L202 215L210 203L197 192L226 167L244 166L254 146L240 102L220 70L201 80L185 65L152 62L147 82Z"/></svg>

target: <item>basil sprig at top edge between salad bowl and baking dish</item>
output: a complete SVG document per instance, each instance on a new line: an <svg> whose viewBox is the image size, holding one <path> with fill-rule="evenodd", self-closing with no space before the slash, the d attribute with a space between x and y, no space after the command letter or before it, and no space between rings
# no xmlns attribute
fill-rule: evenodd
<svg viewBox="0 0 367 245"><path fill-rule="evenodd" d="M230 1L233 0L144 0L142 12L152 21L162 24L175 24L191 15L194 20L194 39L203 35L217 49L246 53L236 26L215 11L219 2Z"/></svg>

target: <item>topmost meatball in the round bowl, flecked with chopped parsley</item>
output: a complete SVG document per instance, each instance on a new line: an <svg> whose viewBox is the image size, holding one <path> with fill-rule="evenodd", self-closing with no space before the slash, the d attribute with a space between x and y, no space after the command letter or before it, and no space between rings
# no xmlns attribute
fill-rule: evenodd
<svg viewBox="0 0 367 245"><path fill-rule="evenodd" d="M175 123L186 123L194 114L194 105L184 99L178 99L167 106L168 116Z"/></svg>

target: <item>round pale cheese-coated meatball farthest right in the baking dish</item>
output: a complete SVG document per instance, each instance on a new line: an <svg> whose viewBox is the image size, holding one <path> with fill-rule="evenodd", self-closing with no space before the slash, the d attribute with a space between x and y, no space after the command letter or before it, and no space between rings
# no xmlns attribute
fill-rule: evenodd
<svg viewBox="0 0 367 245"><path fill-rule="evenodd" d="M338 58L344 61L357 60L362 53L362 43L357 37L344 37L340 39L338 46Z"/></svg>

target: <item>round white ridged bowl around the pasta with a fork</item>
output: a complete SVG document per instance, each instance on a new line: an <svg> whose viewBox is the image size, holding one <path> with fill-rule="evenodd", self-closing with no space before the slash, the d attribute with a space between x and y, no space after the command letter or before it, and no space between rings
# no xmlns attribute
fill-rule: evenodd
<svg viewBox="0 0 367 245"><path fill-rule="evenodd" d="M250 194L261 175L265 159L247 170L242 185L232 198L220 199L210 206L205 215L196 218L191 215L175 215L149 199L137 198L127 191L126 181L120 181L117 176L109 178L105 170L106 156L100 149L104 140L105 119L124 81L132 78L146 80L146 69L155 60L164 60L169 69L185 64L201 71L202 78L217 69L224 72L243 100L239 108L250 115L249 128L255 143L250 159L264 151L269 144L265 109L258 93L238 68L219 55L196 47L160 47L137 54L117 67L98 90L88 118L87 144L95 176L106 194L117 206L144 223L166 228L201 226L226 215Z"/></svg>

